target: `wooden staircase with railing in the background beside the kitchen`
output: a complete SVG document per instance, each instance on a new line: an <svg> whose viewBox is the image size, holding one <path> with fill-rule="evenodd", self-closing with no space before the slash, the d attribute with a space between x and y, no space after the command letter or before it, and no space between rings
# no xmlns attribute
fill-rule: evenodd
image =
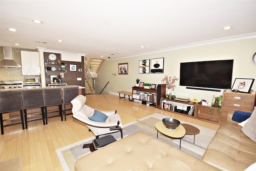
<svg viewBox="0 0 256 171"><path fill-rule="evenodd" d="M84 57L85 93L95 94L95 80L104 60Z"/></svg>

